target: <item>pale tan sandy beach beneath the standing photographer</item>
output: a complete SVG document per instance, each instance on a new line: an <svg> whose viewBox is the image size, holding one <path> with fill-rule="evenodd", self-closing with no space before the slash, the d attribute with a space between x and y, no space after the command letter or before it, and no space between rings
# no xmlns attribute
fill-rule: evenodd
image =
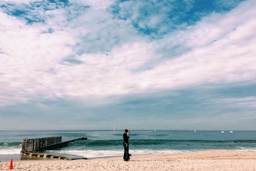
<svg viewBox="0 0 256 171"><path fill-rule="evenodd" d="M9 162L0 163L8 170ZM256 170L256 152L211 150L178 154L132 156L91 160L13 161L13 170Z"/></svg>

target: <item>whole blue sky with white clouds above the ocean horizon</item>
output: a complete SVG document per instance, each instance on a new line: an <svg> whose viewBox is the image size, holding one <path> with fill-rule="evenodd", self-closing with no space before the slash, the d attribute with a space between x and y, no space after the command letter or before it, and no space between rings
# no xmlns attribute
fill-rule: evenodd
<svg viewBox="0 0 256 171"><path fill-rule="evenodd" d="M256 130L255 9L1 0L0 130Z"/></svg>

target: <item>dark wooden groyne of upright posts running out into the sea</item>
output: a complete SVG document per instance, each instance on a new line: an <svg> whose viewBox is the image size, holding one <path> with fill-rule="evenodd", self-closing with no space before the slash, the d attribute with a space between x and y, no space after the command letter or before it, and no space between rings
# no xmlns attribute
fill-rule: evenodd
<svg viewBox="0 0 256 171"><path fill-rule="evenodd" d="M45 150L57 149L67 146L70 142L77 140L87 140L87 138L77 138L70 141L61 142L62 137L46 137L37 139L23 139L22 151L20 153L44 152Z"/></svg>

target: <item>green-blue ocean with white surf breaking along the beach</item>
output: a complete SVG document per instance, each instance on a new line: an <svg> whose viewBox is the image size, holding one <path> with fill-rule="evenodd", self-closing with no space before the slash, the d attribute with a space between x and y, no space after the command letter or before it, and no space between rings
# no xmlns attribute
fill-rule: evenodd
<svg viewBox="0 0 256 171"><path fill-rule="evenodd" d="M173 154L206 149L256 151L256 131L129 130L132 155ZM62 136L62 141L87 137L46 153L87 158L122 156L123 130L0 131L1 156L18 155L23 139Z"/></svg>

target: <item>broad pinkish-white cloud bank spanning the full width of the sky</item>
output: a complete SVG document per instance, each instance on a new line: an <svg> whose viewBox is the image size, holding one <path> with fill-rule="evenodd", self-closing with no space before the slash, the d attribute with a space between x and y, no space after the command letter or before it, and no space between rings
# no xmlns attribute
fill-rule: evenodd
<svg viewBox="0 0 256 171"><path fill-rule="evenodd" d="M102 10L111 3L71 21L64 9L49 11L45 25L26 25L0 12L0 105L255 80L255 4L244 3L221 19L212 14L176 35L148 41L129 20L113 19ZM158 23L156 17L148 25ZM42 33L49 28L54 31ZM190 51L169 58L176 45ZM63 62L67 57L81 63Z"/></svg>

